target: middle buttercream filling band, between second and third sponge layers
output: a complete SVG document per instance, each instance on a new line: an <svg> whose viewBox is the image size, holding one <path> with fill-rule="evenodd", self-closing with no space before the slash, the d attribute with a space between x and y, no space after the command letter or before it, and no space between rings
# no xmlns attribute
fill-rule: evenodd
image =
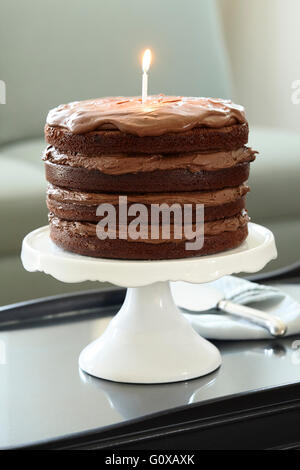
<svg viewBox="0 0 300 470"><path fill-rule="evenodd" d="M219 206L237 201L250 190L249 186L242 184L235 188L224 188L216 191L178 192L178 193L146 193L128 194L127 203L150 204L205 204L206 206ZM119 204L119 195L104 193L86 193L58 188L48 185L47 197L49 201L82 206L98 206L99 204Z"/></svg>

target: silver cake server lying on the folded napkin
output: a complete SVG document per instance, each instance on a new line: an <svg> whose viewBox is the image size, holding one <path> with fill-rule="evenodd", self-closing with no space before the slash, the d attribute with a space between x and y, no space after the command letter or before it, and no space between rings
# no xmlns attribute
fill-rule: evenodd
<svg viewBox="0 0 300 470"><path fill-rule="evenodd" d="M223 293L214 287L174 282L171 283L171 290L176 305L189 312L203 312L211 309L221 310L234 317L261 326L275 337L284 336L287 331L285 323L280 318L226 300Z"/></svg>

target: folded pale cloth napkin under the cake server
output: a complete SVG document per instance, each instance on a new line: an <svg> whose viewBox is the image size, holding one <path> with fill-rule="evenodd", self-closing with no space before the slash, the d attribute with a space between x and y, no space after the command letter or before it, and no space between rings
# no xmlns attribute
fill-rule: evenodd
<svg viewBox="0 0 300 470"><path fill-rule="evenodd" d="M223 292L227 300L249 305L281 318L288 328L286 335L300 333L300 304L280 290L234 276L225 276L208 285ZM195 288L197 287L200 295L201 285L195 285ZM194 329L205 338L220 340L272 338L267 330L246 320L223 314L219 310L207 312L185 314Z"/></svg>

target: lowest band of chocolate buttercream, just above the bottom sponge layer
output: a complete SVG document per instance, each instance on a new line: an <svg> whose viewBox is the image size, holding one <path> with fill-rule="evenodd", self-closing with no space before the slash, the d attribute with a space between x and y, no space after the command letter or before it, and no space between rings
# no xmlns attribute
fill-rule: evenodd
<svg viewBox="0 0 300 470"><path fill-rule="evenodd" d="M234 232L240 227L243 227L249 221L248 214L243 210L240 214L234 217L228 217L225 219L214 220L204 223L204 236L218 235L223 232ZM96 226L90 222L70 222L62 220L52 213L49 214L49 222L52 226L55 226L58 229L66 231L70 236L79 235L82 237L96 237ZM196 226L193 226L193 230L196 230ZM109 238L114 238L114 233L110 228L107 230ZM121 238L127 240L128 242L143 242L143 243L180 243L183 240L188 238L185 236L184 230L182 230L182 237L175 238L175 233L178 233L176 227L173 225L170 226L170 235L168 238L163 238L162 236L162 226L160 226L159 237L156 239L151 238L151 227L141 227L140 234L141 237L138 239L131 239L127 235L127 226L126 227L117 227L116 238Z"/></svg>

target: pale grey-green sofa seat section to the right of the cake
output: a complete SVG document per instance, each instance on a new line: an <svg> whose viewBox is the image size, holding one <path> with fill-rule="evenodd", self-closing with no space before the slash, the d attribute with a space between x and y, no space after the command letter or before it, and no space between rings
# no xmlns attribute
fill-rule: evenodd
<svg viewBox="0 0 300 470"><path fill-rule="evenodd" d="M256 218L300 219L300 135L250 126L250 145L259 151L251 165L249 214Z"/></svg>

